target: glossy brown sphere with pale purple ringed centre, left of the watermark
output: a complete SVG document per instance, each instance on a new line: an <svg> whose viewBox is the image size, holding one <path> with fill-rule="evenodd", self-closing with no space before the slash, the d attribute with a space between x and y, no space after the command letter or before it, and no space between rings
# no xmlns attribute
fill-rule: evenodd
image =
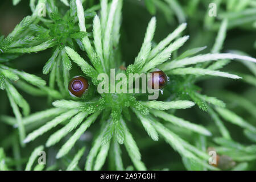
<svg viewBox="0 0 256 182"><path fill-rule="evenodd" d="M68 90L71 96L82 97L82 94L88 89L89 84L86 78L77 76L72 78L68 84Z"/></svg>

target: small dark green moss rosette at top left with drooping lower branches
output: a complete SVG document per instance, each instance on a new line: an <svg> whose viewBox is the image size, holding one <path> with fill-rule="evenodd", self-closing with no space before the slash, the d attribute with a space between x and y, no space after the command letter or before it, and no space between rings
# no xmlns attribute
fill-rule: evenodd
<svg viewBox="0 0 256 182"><path fill-rule="evenodd" d="M44 22L42 26L32 24L30 29L35 32L39 39L54 43L53 54L44 66L43 73L48 74L51 72L50 88L54 88L56 81L60 92L65 96L68 92L65 92L64 84L67 85L69 80L71 61L63 48L65 46L75 48L75 44L77 44L80 49L84 50L81 39L89 36L90 33L79 31L75 0L69 3L69 10L64 15L59 13L55 1L46 1L46 8L50 20ZM95 9L94 7L92 10L86 10L85 18L92 18L96 14L95 10L97 8ZM87 24L87 26L90 27L90 24Z"/></svg>

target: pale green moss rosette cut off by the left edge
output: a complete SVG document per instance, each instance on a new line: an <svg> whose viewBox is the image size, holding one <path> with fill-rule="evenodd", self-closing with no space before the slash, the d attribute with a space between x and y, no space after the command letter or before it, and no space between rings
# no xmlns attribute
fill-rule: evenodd
<svg viewBox="0 0 256 182"><path fill-rule="evenodd" d="M72 2L75 3L75 1ZM30 113L30 106L14 86L17 86L19 89L32 96L50 96L54 99L61 98L60 93L57 92L57 90L51 89L52 87L48 88L46 81L42 78L24 71L18 71L9 66L9 61L16 59L23 53L43 51L55 45L55 43L51 41L52 38L47 36L47 34L37 36L34 32L30 31L31 27L43 28L38 25L40 21L49 23L47 19L38 16L40 3L46 3L46 1L38 1L38 5L33 9L31 16L26 16L6 38L5 36L0 37L0 88L5 89L9 97L11 107L13 108L19 125L21 141L26 134L21 122L23 116L19 111L19 107L23 110L23 115L27 116ZM52 8L54 7L54 4L52 4ZM76 16L74 6L73 11L73 16ZM22 143L22 145L23 144L24 143Z"/></svg>

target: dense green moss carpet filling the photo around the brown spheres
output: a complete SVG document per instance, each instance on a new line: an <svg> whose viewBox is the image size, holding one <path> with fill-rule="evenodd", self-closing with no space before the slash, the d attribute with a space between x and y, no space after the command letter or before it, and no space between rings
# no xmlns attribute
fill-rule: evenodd
<svg viewBox="0 0 256 182"><path fill-rule="evenodd" d="M7 129L0 134L0 170L255 169L256 59L239 50L247 39L236 50L223 50L228 31L240 27L255 34L256 6L254 1L237 6L234 1L214 2L219 19L209 18L208 9L199 7L208 8L206 1L30 0L32 15L0 37L1 99L8 98L3 107L13 110L0 115L0 126ZM46 16L39 16L42 5ZM143 41L136 42L140 48L134 61L123 56L130 51L123 49L128 33L122 27L129 7L142 8L147 17L147 11L155 15ZM195 15L197 9L205 18ZM163 22L156 23L158 16L173 27L161 39L158 30L164 28ZM209 43L198 47L202 31L193 24L202 22ZM195 36L186 35L188 27ZM129 36L137 34L136 28ZM51 52L40 68L44 75L12 64L28 53L40 57L44 50ZM156 100L148 100L148 93L98 92L98 75L110 77L113 69L127 78L160 69L168 82ZM69 80L77 75L95 89L90 97L69 95ZM105 89L124 82L110 82ZM225 88L232 83L244 86L243 93ZM39 98L47 98L48 104L40 106L44 101ZM31 108L35 102L39 106ZM220 156L217 166L208 163L212 147ZM46 165L37 163L41 151L46 152ZM157 159L151 162L154 155Z"/></svg>

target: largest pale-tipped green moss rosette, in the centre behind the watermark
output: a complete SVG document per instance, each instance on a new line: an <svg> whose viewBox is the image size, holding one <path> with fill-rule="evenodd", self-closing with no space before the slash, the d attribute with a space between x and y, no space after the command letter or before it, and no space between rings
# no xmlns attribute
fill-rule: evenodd
<svg viewBox="0 0 256 182"><path fill-rule="evenodd" d="M76 1L77 16L79 18L80 31L86 32L84 9L81 1ZM119 53L119 28L121 20L122 1L113 0L108 9L108 1L101 1L101 19L96 15L93 20L93 39L94 45L90 43L88 36L82 38L82 43L85 47L86 53L90 59L90 65L77 52L70 47L65 47L68 56L81 67L82 72L92 79L92 83L97 86L97 76L99 73L109 74L110 68L118 68L121 65L121 60L117 59ZM196 48L185 52L179 59L171 60L170 56L173 51L179 49L188 40L188 36L179 38L181 32L185 29L186 24L181 24L174 32L162 40L157 46L152 47L152 39L155 31L156 19L152 18L148 24L144 42L141 51L136 57L134 64L127 67L126 74L129 73L147 73L153 68L160 68L165 71L170 77L174 75L185 75L193 72L198 72L197 75L221 76L228 78L240 78L237 75L230 73L215 71L220 68L220 62L215 65L215 69L187 67L197 63L206 63L222 59L241 59L245 61L255 62L256 60L249 56L236 55L233 53L208 53L205 55L192 56L199 52L201 48ZM110 36L112 35L112 36ZM117 48L117 49L116 49ZM175 80L175 79L174 79ZM171 82L170 82L171 83ZM184 84L182 82L181 84ZM174 85L175 86L175 85ZM170 86L167 85L166 90ZM193 89L193 86L191 86ZM167 92L164 90L164 92ZM212 97L203 96L200 94L192 94L189 96L197 102L197 98L204 98L209 102L215 102L222 105L221 101L214 100ZM138 170L145 170L146 167L142 162L141 153L132 134L129 131L129 125L132 121L130 119L130 110L137 115L141 120L142 126L152 138L158 140L159 135L170 144L174 150L179 152L183 159L189 159L192 162L202 165L208 169L218 169L210 166L207 162L209 156L207 153L192 144L187 140L175 134L168 129L160 118L172 123L183 130L197 133L202 136L212 135L204 126L185 121L184 119L175 117L170 114L168 110L171 109L186 109L194 105L191 101L178 100L179 97L173 97L174 101L140 101L136 94L114 93L114 94L99 94L90 101L68 101L59 100L53 102L55 109L49 109L40 113L32 114L24 118L24 125L46 119L48 117L55 117L47 122L39 129L27 135L24 140L25 143L31 142L40 135L51 130L53 127L70 121L67 124L53 133L47 140L46 146L52 146L65 137L68 133L75 130L75 133L65 142L57 153L57 158L61 158L71 151L77 140L82 134L94 123L101 115L100 122L95 125L100 125L100 133L94 136L92 148L86 158L86 170L101 169L105 163L106 157L110 150L114 151L115 168L123 170L123 162L121 158L121 148L119 144L124 144L127 153L130 156L134 167ZM200 106L200 103L197 102ZM222 105L223 106L223 105ZM59 113L55 112L59 111ZM206 109L205 109L206 110ZM245 125L245 122L242 123ZM246 124L249 126L249 123ZM249 129L249 127L248 127ZM250 129L250 131L254 129Z"/></svg>

